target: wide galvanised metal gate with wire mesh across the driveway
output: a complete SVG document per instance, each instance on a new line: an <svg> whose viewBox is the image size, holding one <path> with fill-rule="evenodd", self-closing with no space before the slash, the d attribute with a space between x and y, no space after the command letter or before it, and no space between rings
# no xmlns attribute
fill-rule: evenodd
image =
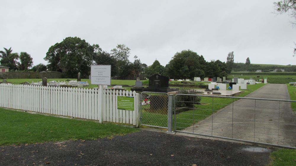
<svg viewBox="0 0 296 166"><path fill-rule="evenodd" d="M175 96L175 130L247 142L296 147L296 118L289 100Z"/></svg>

